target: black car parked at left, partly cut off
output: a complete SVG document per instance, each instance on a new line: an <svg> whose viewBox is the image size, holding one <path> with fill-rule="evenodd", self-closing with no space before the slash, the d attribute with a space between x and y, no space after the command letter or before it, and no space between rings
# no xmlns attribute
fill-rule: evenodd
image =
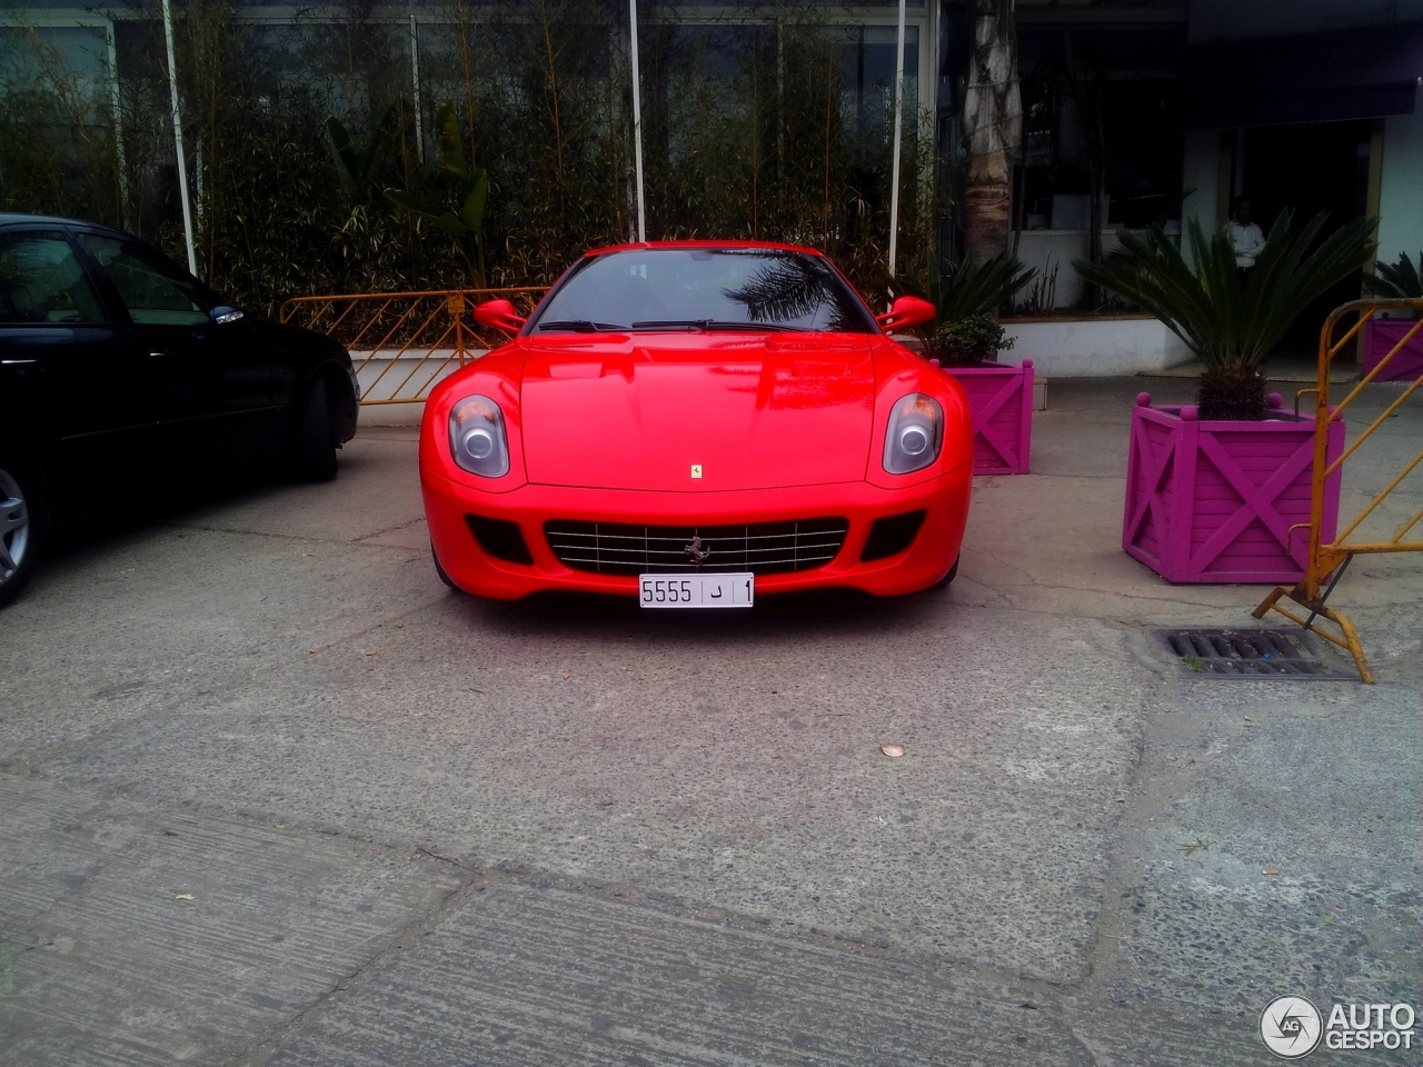
<svg viewBox="0 0 1423 1067"><path fill-rule="evenodd" d="M58 526L273 461L334 478L357 396L340 344L243 316L141 240L0 215L0 605Z"/></svg>

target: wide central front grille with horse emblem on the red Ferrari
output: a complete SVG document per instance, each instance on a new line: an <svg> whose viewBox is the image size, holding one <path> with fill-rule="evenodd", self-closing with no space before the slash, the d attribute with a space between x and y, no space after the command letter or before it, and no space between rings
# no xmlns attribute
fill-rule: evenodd
<svg viewBox="0 0 1423 1067"><path fill-rule="evenodd" d="M632 526L616 522L544 524L548 546L565 566L599 575L781 575L824 566L845 543L845 519L761 522L750 526ZM704 562L687 553L702 538Z"/></svg>

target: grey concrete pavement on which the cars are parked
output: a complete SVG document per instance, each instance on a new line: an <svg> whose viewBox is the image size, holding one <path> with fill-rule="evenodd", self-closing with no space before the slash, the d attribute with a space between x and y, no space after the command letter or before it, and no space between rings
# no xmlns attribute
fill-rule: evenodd
<svg viewBox="0 0 1423 1067"><path fill-rule="evenodd" d="M1153 627L1264 590L1121 553L1141 387L1053 383L901 600L450 593L400 427L71 541L0 615L0 1063L1264 1064L1275 996L1423 1003L1423 568L1335 595L1377 686L1183 676Z"/></svg>

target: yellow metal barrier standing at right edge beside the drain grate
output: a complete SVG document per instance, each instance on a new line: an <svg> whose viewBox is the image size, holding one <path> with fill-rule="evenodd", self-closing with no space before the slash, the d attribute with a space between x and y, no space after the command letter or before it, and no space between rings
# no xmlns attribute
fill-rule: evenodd
<svg viewBox="0 0 1423 1067"><path fill-rule="evenodd" d="M1387 541L1349 541L1349 536L1359 529L1360 524L1383 502L1383 499L1393 492L1399 484L1413 472L1413 469L1423 462L1423 452L1419 452L1413 460L1399 472L1399 475L1390 481L1379 494L1369 502L1359 515L1349 524L1346 524L1342 532L1336 534L1333 541L1328 543L1323 539L1323 512L1325 512L1325 479L1329 478L1335 471L1338 471L1345 460L1353 455L1359 445L1368 441L1373 431L1383 425L1383 421L1389 418L1395 411L1402 407L1403 401L1407 400L1413 393L1423 387L1423 374L1419 376L1416 381L1407 383L1402 396L1385 408L1383 414L1375 418L1369 427L1360 432L1353 442L1345 450L1345 452L1329 462L1326 448L1329 441L1329 425L1331 423L1338 423L1345 417L1349 405L1359 398L1363 393L1363 387L1379 377L1389 363L1399 357L1399 353L1409 344L1410 340L1423 329L1423 319L1413 323L1410 329L1399 341L1389 350L1379 364L1363 377L1363 380L1350 390L1349 396L1340 400L1338 404L1331 405L1329 403L1329 366L1333 363L1335 356L1349 344L1360 330L1369 323L1375 312L1382 310L1410 310L1423 312L1423 300L1355 300L1352 303L1336 307L1331 312L1329 319L1325 322L1323 330L1319 333L1319 384L1313 388L1302 388L1295 397L1295 408L1298 411L1299 400L1309 393L1315 394L1315 469L1313 469L1313 484L1311 487L1309 499L1309 561L1305 566L1305 576L1292 588L1286 589L1279 586L1269 596L1266 596L1259 607L1255 609L1254 616L1257 619L1265 617L1269 610L1279 612L1286 619L1303 626L1306 630L1318 633L1321 637L1333 642L1342 649L1348 649L1349 654L1353 656L1355 666L1359 669L1359 677L1368 683L1373 683L1373 671L1369 669L1369 660L1363 654L1363 646L1359 643L1359 635L1349 622L1349 616L1343 612L1329 607L1325 602L1333 592L1335 585L1343 576L1345 569L1349 566L1356 555L1380 555L1385 552L1423 552L1423 541L1405 541L1414 526L1423 521L1423 509L1419 509L1409 518ZM1335 329L1346 316L1355 314L1355 323L1348 331L1338 340L1335 340ZM1325 582L1329 582L1328 588ZM1302 609L1309 612L1309 617L1301 617L1295 612L1281 607L1279 600L1288 599L1299 605ZM1335 626L1339 627L1340 637L1321 630L1315 626L1315 619L1328 619Z"/></svg>

